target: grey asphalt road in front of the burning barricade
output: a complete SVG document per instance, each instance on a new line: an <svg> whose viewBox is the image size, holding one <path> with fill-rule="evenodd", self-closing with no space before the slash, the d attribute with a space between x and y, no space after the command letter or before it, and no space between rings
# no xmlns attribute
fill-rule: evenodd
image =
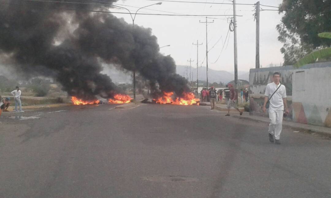
<svg viewBox="0 0 331 198"><path fill-rule="evenodd" d="M114 107L4 114L0 197L331 197L330 140L285 129L274 145L265 123L209 107Z"/></svg>

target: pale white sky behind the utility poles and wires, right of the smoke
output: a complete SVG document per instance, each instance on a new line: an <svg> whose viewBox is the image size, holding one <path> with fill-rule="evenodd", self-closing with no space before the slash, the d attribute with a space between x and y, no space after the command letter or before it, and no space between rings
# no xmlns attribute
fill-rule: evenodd
<svg viewBox="0 0 331 198"><path fill-rule="evenodd" d="M231 3L230 0L190 0L197 2L215 2L215 3ZM254 4L257 0L237 0L236 3ZM260 0L260 4L278 6L282 0ZM119 0L117 4L143 7L157 1L148 0ZM125 6L126 7L126 6ZM135 13L138 8L126 7L131 13ZM264 9L276 9L270 7L262 7ZM153 10L147 10L153 9ZM250 68L255 68L255 31L256 22L253 18L254 7L251 5L237 5L237 41L238 41L238 70L249 71ZM113 10L114 12L126 12L122 9ZM174 3L162 2L162 5L153 5L146 9L141 9L139 13L158 13L158 14L171 14L165 13L173 12L179 14L193 14L193 15L232 15L233 6L224 4L196 4L196 3ZM123 17L128 23L132 23L129 15L115 14L117 17ZM227 22L228 16L215 16L221 19L208 19L214 20L214 23L208 25L208 49L213 49L208 53L208 67L215 70L225 70L233 72L234 70L234 50L233 50L233 32L229 34L229 43L220 53L226 34L228 32L229 24ZM280 64L283 62L283 56L280 53L282 44L277 40L278 32L276 25L280 23L281 15L277 11L262 11L260 12L260 65L267 67L270 63ZM192 66L196 67L197 48L192 43L199 43L199 66L206 57L206 24L199 23L206 21L204 16L148 16L137 15L135 24L152 28L153 34L158 38L160 47L171 45L160 49L161 53L174 58L177 65L189 65L189 60L192 58ZM220 55L218 61L214 63ZM206 66L206 60L202 66Z"/></svg>

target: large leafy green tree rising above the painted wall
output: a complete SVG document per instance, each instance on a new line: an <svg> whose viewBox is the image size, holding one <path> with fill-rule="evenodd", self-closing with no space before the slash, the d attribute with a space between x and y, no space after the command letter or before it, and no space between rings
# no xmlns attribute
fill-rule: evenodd
<svg viewBox="0 0 331 198"><path fill-rule="evenodd" d="M318 37L319 32L331 30L331 0L283 0L279 10L284 13L276 26L284 65L331 45L331 40Z"/></svg>

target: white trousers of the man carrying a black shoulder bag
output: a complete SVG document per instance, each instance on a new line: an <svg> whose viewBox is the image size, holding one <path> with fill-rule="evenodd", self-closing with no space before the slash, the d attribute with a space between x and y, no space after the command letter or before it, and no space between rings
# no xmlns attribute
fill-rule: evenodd
<svg viewBox="0 0 331 198"><path fill-rule="evenodd" d="M280 133L283 127L283 110L270 110L269 109L269 133L275 136L276 140L279 140Z"/></svg>

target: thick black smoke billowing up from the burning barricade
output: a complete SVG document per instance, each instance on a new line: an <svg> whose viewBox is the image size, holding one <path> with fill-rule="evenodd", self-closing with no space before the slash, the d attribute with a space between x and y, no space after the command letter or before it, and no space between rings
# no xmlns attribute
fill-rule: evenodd
<svg viewBox="0 0 331 198"><path fill-rule="evenodd" d="M133 30L109 13L84 11L106 10L104 5L0 2L0 53L9 54L16 69L27 75L56 78L71 96L112 98L120 91L100 74L100 62L136 71L148 80L154 96L189 91L187 81L176 74L174 60L160 54L151 29L135 26Z"/></svg>

